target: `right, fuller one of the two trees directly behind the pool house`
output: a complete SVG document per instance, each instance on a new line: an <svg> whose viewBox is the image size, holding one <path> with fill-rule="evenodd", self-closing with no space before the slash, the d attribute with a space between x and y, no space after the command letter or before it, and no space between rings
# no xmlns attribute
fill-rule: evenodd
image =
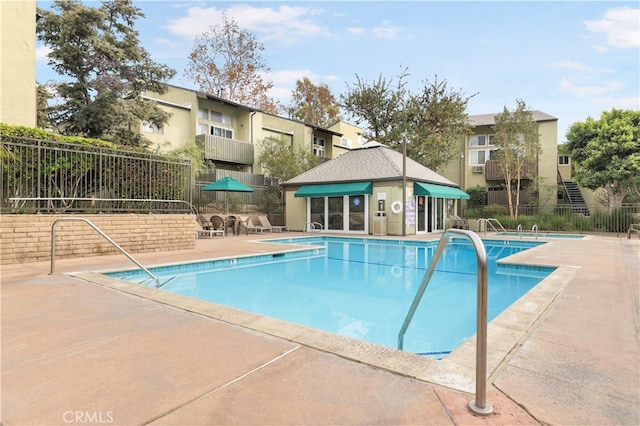
<svg viewBox="0 0 640 426"><path fill-rule="evenodd" d="M449 89L437 76L432 83L425 81L405 107L407 156L432 170L457 158L458 141L471 133L466 110L473 96Z"/></svg>

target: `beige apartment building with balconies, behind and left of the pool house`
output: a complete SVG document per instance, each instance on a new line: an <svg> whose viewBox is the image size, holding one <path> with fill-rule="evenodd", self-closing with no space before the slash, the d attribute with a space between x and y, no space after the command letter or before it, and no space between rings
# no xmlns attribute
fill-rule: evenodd
<svg viewBox="0 0 640 426"><path fill-rule="evenodd" d="M294 149L308 149L323 160L362 145L361 129L343 121L321 128L173 85L164 94L144 97L171 114L163 128L141 124L141 133L154 147L176 149L197 141L204 146L205 160L219 170L261 174L256 159L260 142L268 137L284 138Z"/></svg>

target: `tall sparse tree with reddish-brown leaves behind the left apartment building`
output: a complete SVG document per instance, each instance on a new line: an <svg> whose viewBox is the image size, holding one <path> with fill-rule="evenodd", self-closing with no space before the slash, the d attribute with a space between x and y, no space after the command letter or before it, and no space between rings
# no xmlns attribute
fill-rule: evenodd
<svg viewBox="0 0 640 426"><path fill-rule="evenodd" d="M262 78L271 71L263 50L253 34L223 15L221 24L196 37L185 75L199 90L276 114L278 103L268 96L273 83Z"/></svg>

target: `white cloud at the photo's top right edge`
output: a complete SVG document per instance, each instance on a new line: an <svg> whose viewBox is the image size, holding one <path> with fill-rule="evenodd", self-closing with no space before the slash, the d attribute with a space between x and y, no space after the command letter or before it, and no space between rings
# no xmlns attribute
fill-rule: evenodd
<svg viewBox="0 0 640 426"><path fill-rule="evenodd" d="M607 46L613 48L640 47L640 9L617 7L608 9L599 21L585 21L587 29L593 33L604 33ZM605 49L602 45L594 46Z"/></svg>

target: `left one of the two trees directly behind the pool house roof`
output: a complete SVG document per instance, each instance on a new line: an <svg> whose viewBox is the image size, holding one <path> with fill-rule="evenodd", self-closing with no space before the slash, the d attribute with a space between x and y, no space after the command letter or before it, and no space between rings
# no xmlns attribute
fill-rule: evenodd
<svg viewBox="0 0 640 426"><path fill-rule="evenodd" d="M340 105L355 118L357 125L363 123L363 137L390 147L401 143L405 130L403 113L406 91L404 70L398 82L378 76L367 82L356 74L356 84L347 83L347 92L340 95Z"/></svg>

